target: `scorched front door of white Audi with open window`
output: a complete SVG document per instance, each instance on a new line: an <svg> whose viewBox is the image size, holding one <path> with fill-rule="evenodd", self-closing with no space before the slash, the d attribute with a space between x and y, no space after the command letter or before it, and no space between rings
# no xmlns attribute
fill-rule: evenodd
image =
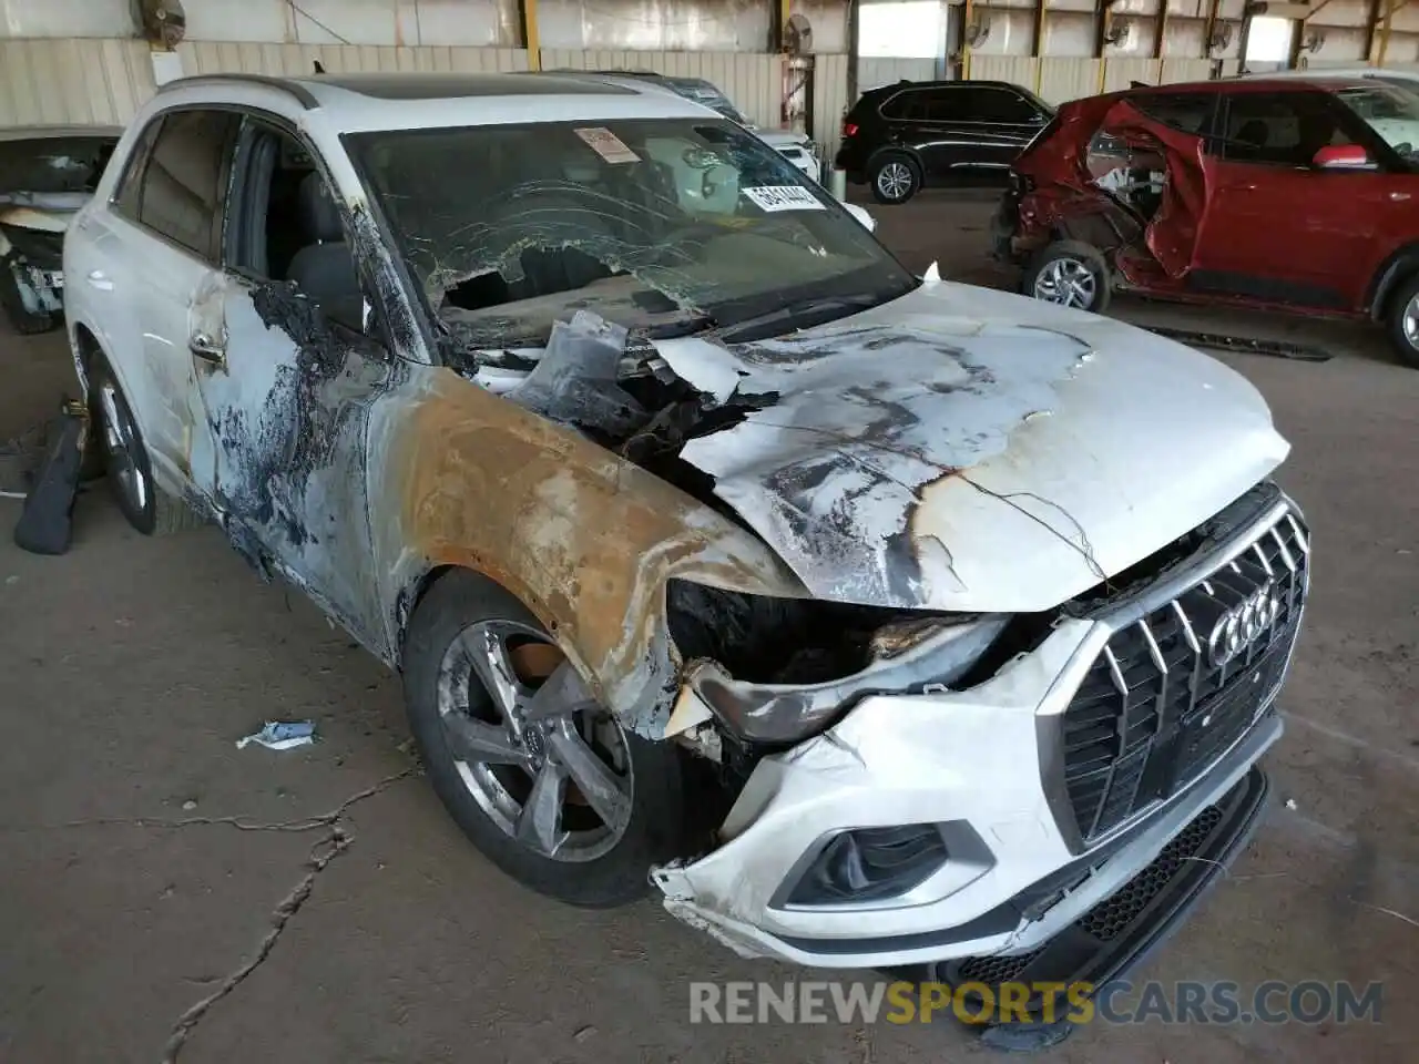
<svg viewBox="0 0 1419 1064"><path fill-rule="evenodd" d="M376 648L366 437L390 358L362 331L343 220L294 132L244 119L228 189L226 268L193 308L192 475L248 560Z"/></svg>

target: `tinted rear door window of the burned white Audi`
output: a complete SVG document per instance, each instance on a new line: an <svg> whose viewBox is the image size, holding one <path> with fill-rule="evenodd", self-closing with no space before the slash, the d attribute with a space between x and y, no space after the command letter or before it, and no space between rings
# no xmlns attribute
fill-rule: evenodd
<svg viewBox="0 0 1419 1064"><path fill-rule="evenodd" d="M140 224L203 258L217 258L223 179L240 122L230 111L175 111L163 118L143 169Z"/></svg>

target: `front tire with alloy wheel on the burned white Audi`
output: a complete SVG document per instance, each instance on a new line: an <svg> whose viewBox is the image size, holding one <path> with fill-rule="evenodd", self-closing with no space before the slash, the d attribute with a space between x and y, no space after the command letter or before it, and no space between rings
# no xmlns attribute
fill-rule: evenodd
<svg viewBox="0 0 1419 1064"><path fill-rule="evenodd" d="M607 908L643 897L650 867L681 851L678 749L592 701L536 617L501 587L468 572L441 577L410 620L403 675L434 790L514 880Z"/></svg>

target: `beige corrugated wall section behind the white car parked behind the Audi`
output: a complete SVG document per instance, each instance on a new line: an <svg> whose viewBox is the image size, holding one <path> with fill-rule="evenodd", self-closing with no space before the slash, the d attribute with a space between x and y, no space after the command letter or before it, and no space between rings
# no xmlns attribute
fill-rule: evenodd
<svg viewBox="0 0 1419 1064"><path fill-rule="evenodd" d="M820 60L823 57L819 57ZM707 78L752 122L782 125L783 58L763 52L629 51L543 48L542 70L653 70L677 78ZM846 77L846 74L844 74Z"/></svg>

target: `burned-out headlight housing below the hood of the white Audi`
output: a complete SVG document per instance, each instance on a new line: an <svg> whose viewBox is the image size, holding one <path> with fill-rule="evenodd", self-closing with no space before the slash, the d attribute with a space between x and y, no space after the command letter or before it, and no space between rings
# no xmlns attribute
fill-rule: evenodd
<svg viewBox="0 0 1419 1064"><path fill-rule="evenodd" d="M1007 614L949 614L776 599L671 580L670 634L685 684L741 739L789 745L870 694L945 691Z"/></svg>

